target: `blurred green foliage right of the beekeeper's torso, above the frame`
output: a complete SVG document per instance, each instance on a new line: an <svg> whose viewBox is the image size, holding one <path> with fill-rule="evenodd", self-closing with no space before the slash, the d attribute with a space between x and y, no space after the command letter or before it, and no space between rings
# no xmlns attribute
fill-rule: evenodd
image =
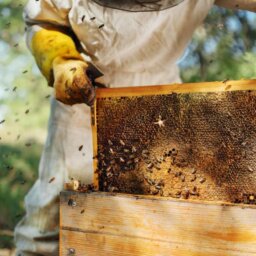
<svg viewBox="0 0 256 256"><path fill-rule="evenodd" d="M180 63L185 82L255 78L256 15L214 7Z"/></svg>

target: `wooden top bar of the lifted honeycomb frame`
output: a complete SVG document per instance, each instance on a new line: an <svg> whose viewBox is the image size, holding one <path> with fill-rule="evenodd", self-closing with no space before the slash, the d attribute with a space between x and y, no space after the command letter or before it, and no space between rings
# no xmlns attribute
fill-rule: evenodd
<svg viewBox="0 0 256 256"><path fill-rule="evenodd" d="M170 93L193 93L193 92L223 92L256 90L256 79L252 80L225 80L218 82L200 82L185 84L167 84L155 86L134 86L118 88L97 89L96 98L146 96Z"/></svg>

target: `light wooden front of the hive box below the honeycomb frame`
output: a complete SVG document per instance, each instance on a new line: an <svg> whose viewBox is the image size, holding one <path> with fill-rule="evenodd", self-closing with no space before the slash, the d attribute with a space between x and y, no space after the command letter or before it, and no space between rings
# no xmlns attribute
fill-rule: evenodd
<svg viewBox="0 0 256 256"><path fill-rule="evenodd" d="M60 255L256 254L255 206L102 192L64 192L60 204Z"/></svg>

